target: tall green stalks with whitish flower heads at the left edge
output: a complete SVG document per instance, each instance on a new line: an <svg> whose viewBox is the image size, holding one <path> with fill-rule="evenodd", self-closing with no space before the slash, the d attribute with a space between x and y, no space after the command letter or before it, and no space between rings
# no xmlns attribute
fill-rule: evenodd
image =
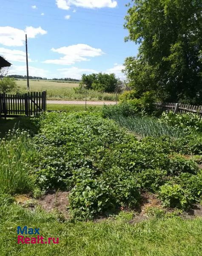
<svg viewBox="0 0 202 256"><path fill-rule="evenodd" d="M31 186L28 158L34 146L27 131L9 131L0 140L0 192L25 192Z"/></svg>

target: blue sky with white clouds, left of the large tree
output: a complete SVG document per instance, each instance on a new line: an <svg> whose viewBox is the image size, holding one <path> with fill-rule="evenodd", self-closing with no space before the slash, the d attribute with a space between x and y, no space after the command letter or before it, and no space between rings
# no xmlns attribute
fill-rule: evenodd
<svg viewBox="0 0 202 256"><path fill-rule="evenodd" d="M1 0L0 55L10 74L26 75L25 33L31 76L115 73L138 46L124 42L125 0Z"/></svg>

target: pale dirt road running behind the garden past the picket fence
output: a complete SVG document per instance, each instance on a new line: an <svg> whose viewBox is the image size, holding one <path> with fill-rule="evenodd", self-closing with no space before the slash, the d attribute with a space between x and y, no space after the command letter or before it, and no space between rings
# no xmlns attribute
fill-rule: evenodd
<svg viewBox="0 0 202 256"><path fill-rule="evenodd" d="M47 100L47 104L62 104L62 105L85 105L85 101L70 101L70 100ZM115 105L116 102L111 101L87 101L87 105Z"/></svg>

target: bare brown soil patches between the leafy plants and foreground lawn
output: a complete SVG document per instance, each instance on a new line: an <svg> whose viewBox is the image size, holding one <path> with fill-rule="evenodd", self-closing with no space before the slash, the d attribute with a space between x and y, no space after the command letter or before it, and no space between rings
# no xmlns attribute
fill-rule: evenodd
<svg viewBox="0 0 202 256"><path fill-rule="evenodd" d="M34 210L36 205L40 205L47 212L57 211L62 214L64 219L69 218L68 212L68 194L70 192L55 192L49 191L43 198L38 200L31 199L29 195L16 195L15 200L17 204L22 204L23 207L27 207L31 210ZM141 193L142 201L137 209L135 209L134 218L129 221L130 224L135 224L141 221L147 220L149 217L146 215L147 209L149 207L158 207L162 208L161 201L156 197L156 195L142 192ZM202 205L194 204L193 209L189 209L187 212L183 212L180 216L184 219L193 219L196 217L202 217ZM165 209L165 208L164 208ZM122 209L124 211L128 211L128 209ZM174 209L165 209L167 212L173 212ZM94 222L105 221L107 218L104 216L100 216L94 220Z"/></svg>

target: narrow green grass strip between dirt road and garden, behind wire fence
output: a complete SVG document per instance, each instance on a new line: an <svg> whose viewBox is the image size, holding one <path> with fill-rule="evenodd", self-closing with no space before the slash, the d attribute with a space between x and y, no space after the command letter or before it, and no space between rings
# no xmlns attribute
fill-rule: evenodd
<svg viewBox="0 0 202 256"><path fill-rule="evenodd" d="M100 111L101 105L87 105L87 111ZM47 111L85 111L85 105L47 104Z"/></svg>

